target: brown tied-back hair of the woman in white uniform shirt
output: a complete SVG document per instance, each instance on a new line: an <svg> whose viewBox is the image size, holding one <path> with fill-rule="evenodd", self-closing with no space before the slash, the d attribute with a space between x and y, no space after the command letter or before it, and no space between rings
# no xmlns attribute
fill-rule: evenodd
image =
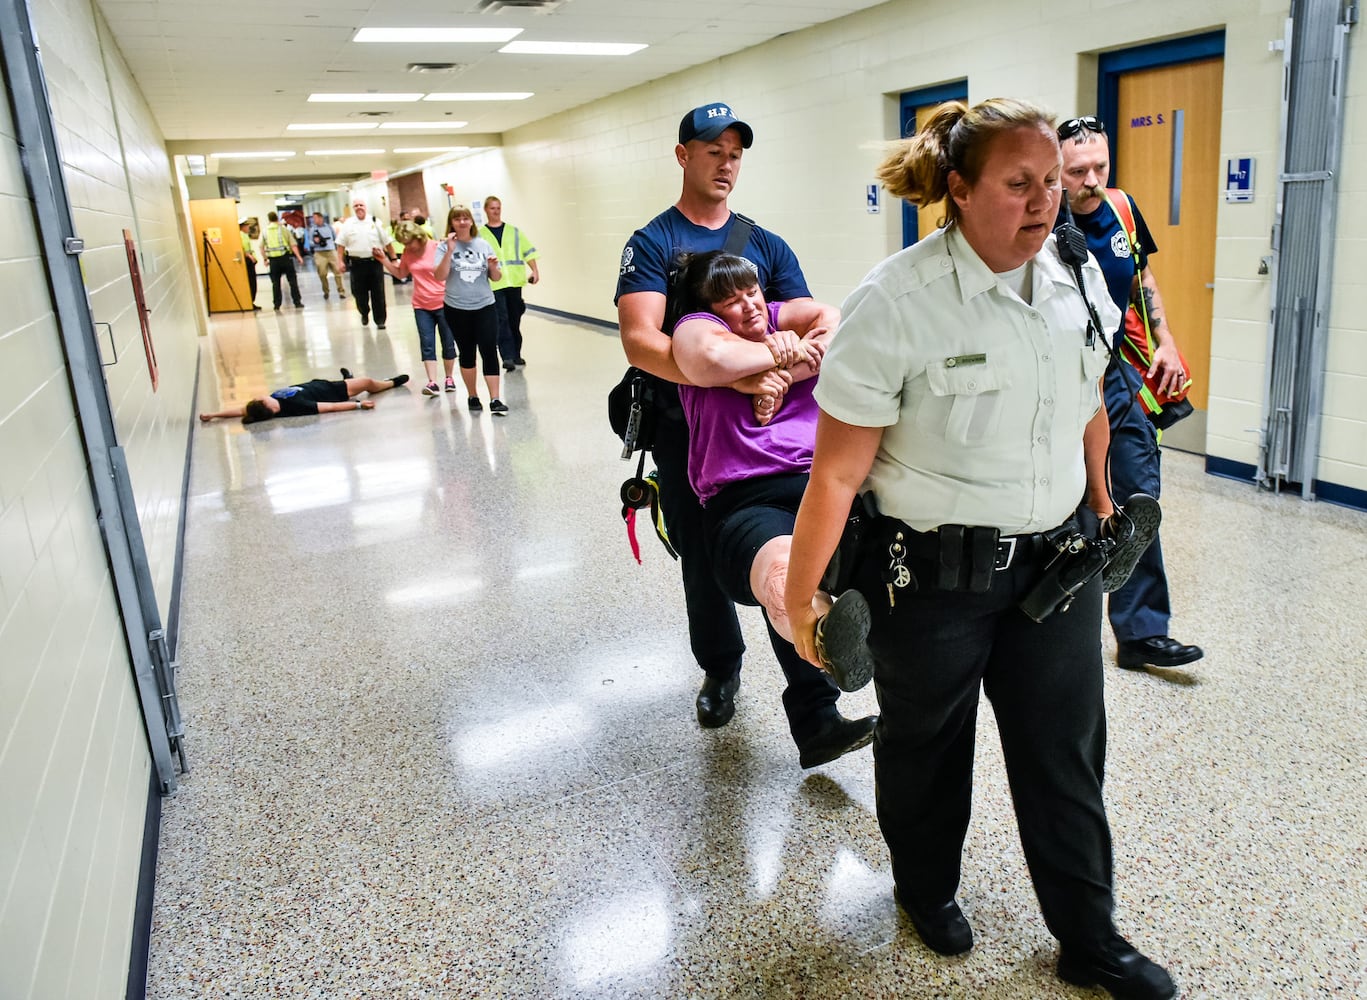
<svg viewBox="0 0 1367 1000"><path fill-rule="evenodd" d="M916 135L893 143L875 176L889 194L913 205L945 201L945 223L951 225L958 220L958 205L949 197L950 172L976 183L988 145L1013 128L1044 128L1053 135L1054 116L1012 97L994 97L972 108L947 101L931 112Z"/></svg>

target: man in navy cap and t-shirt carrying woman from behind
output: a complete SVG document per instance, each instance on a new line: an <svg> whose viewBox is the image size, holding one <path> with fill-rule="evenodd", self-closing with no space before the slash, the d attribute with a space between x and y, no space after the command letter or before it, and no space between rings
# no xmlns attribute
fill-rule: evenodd
<svg viewBox="0 0 1367 1000"><path fill-rule="evenodd" d="M684 116L678 138L674 158L684 169L682 194L671 208L632 234L622 250L614 302L627 361L668 384L659 393L653 455L666 527L684 572L689 639L693 656L707 673L697 695L697 717L704 727L715 728L726 725L735 713L745 643L735 607L714 575L703 508L689 486L688 425L675 388L688 380L674 363L663 327L668 275L678 254L720 250L735 225L727 198L741 172L741 156L755 141L755 133L729 105L708 104ZM756 225L740 255L755 265L768 301L811 298L797 257L772 232ZM753 376L733 388L755 392L759 378ZM783 708L804 766L816 766L865 746L872 739L875 717L848 720L841 716L835 708L839 697L835 683L797 656L772 626L770 639L787 678Z"/></svg>

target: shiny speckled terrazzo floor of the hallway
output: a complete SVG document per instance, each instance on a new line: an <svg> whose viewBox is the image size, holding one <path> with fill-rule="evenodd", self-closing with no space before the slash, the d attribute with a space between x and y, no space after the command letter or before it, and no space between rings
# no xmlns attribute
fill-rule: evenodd
<svg viewBox="0 0 1367 1000"><path fill-rule="evenodd" d="M737 716L699 728L677 568L618 514L615 333L529 313L513 411L472 415L421 395L406 290L379 332L302 284L213 320L201 408L414 383L195 429L149 997L1102 996L1054 977L986 701L960 959L894 907L869 751L798 768L752 611ZM1117 923L1184 997L1362 997L1367 516L1165 462L1207 657L1107 665Z"/></svg>

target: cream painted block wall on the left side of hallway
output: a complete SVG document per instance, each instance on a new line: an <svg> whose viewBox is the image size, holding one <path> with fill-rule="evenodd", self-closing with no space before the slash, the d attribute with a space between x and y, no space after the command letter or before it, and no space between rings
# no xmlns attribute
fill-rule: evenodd
<svg viewBox="0 0 1367 1000"><path fill-rule="evenodd" d="M34 5L119 443L163 616L200 321L175 178L85 0ZM45 40L60 44L46 45ZM101 544L45 265L0 108L0 996L119 997L150 758ZM123 230L141 250L160 361L152 392ZM113 359L101 336L105 361Z"/></svg>

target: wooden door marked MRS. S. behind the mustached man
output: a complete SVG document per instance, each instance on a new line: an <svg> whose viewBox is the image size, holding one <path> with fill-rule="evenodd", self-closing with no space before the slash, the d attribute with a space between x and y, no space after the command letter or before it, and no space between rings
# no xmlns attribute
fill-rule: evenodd
<svg viewBox="0 0 1367 1000"><path fill-rule="evenodd" d="M1150 266L1199 410L1210 389L1223 75L1218 57L1128 72L1120 78L1120 120L1110 127L1115 183L1135 197L1158 245Z"/></svg>

